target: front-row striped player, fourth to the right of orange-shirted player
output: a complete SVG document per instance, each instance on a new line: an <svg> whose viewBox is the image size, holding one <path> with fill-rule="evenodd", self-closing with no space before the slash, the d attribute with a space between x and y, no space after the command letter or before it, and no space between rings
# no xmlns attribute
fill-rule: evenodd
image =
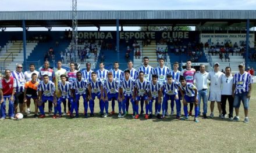
<svg viewBox="0 0 256 153"><path fill-rule="evenodd" d="M88 82L88 92L89 92L89 107L91 114L94 116L94 100L95 97L99 100L99 109L101 110L101 117L104 117L104 97L103 97L103 88L102 82L97 78L96 72L91 72L91 81Z"/></svg>

